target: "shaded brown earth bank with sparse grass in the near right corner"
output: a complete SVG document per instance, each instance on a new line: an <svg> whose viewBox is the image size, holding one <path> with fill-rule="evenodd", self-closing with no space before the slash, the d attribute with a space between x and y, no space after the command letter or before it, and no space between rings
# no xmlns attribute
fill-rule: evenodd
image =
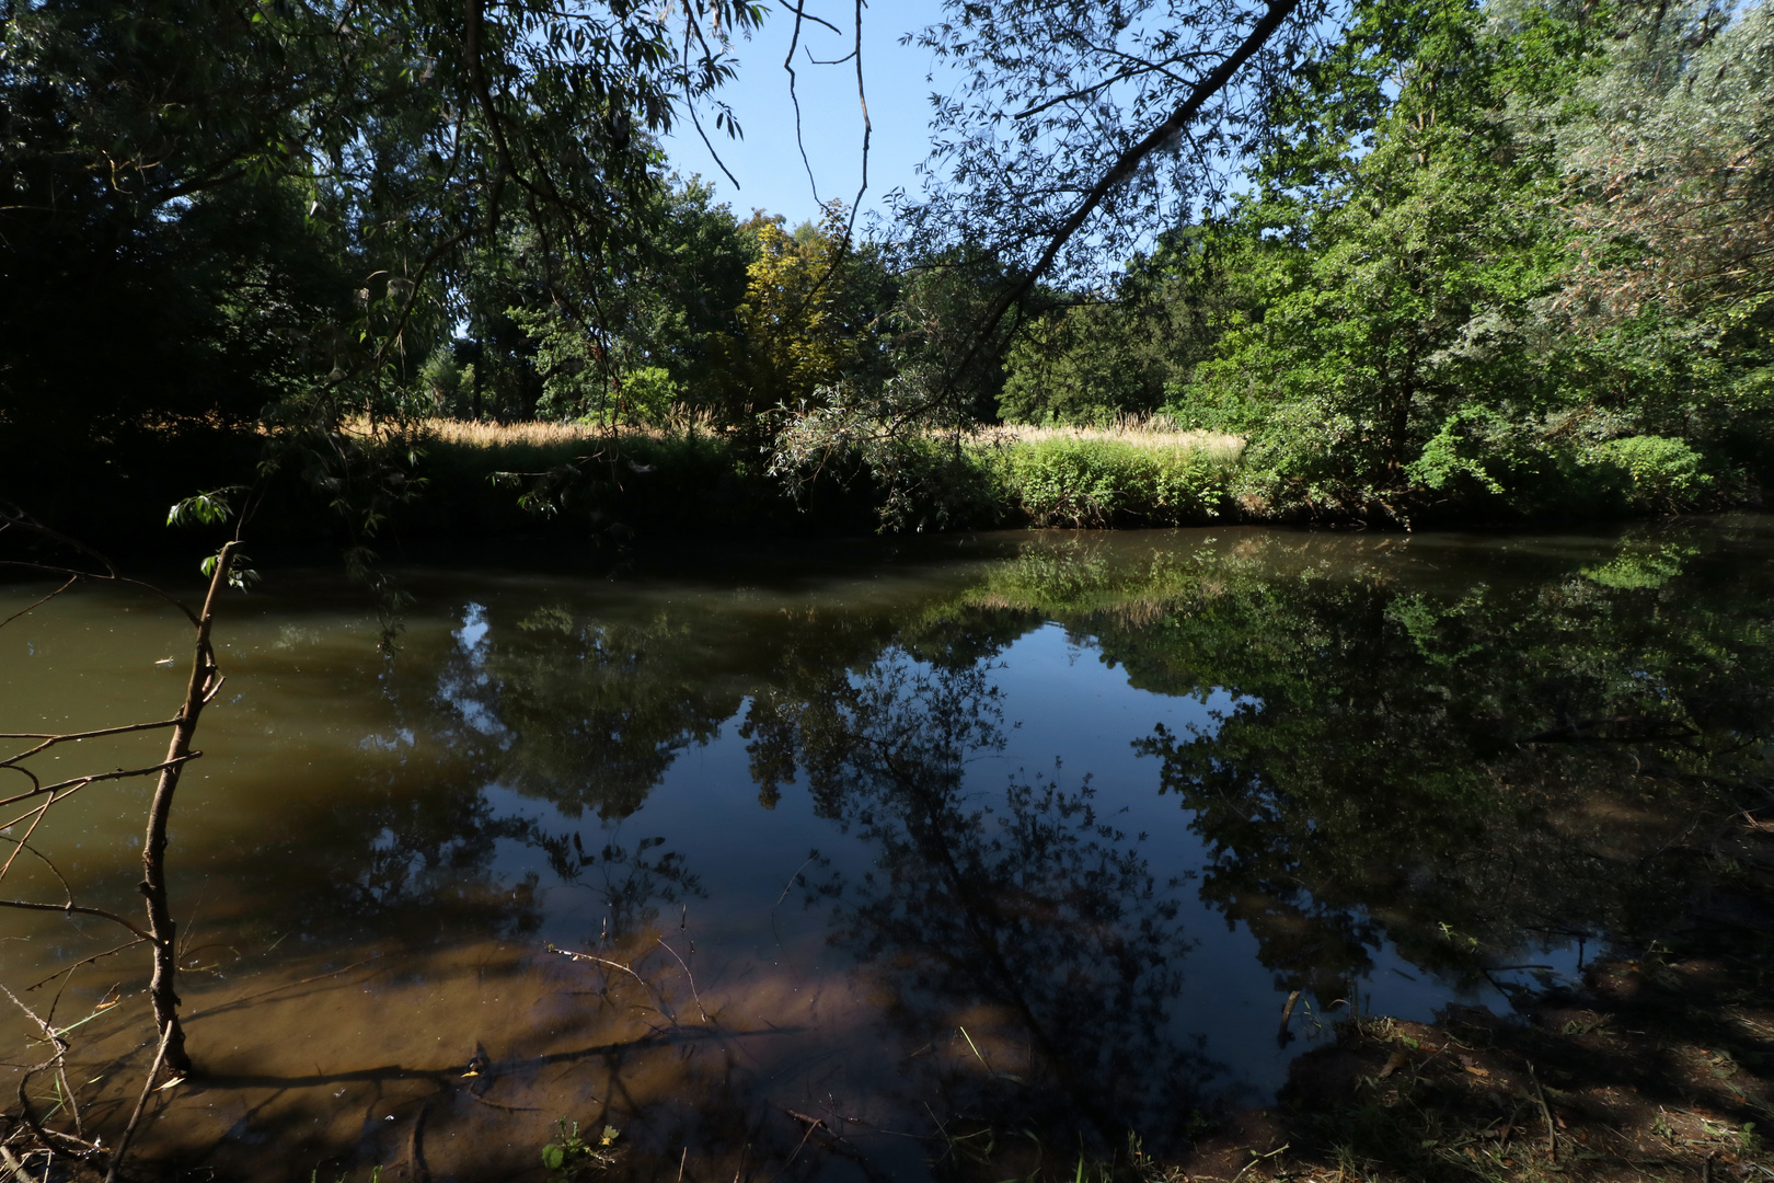
<svg viewBox="0 0 1774 1183"><path fill-rule="evenodd" d="M1293 1061L1276 1103L1201 1119L1167 1158L958 1126L944 1165L969 1183L1770 1179L1774 809L1655 857L1703 867L1684 921L1591 961L1575 988L1515 988L1511 1013L1448 1006L1430 1023L1345 1004L1316 1020L1334 1036ZM1293 1013L1291 1030L1309 1022Z"/></svg>

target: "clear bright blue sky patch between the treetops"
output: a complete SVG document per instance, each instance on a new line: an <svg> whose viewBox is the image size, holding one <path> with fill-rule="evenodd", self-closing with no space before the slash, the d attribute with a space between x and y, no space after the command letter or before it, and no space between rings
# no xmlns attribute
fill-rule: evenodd
<svg viewBox="0 0 1774 1183"><path fill-rule="evenodd" d="M745 138L729 140L711 126L708 112L703 119L708 138L738 188L722 176L688 119L665 138L672 167L713 183L720 200L729 202L740 218L752 209L781 213L789 225L816 218L814 184L825 200L841 197L848 204L857 197L862 177L862 112L857 106L855 62L812 66L807 60L809 51L821 60L850 53L853 5L809 4L807 12L843 28L843 35L837 35L805 21L802 48L795 53L802 138L812 165L812 183L795 147L795 108L789 103L788 73L782 69L795 18L781 4L772 5L761 32L734 44L740 78L724 89L722 98L738 115ZM875 124L864 211L882 209L882 199L896 186L912 193L921 188L917 167L930 151L930 92L942 87L942 82L926 82L933 66L930 51L901 46L899 37L940 14L940 0L876 0L864 11L862 73L869 119Z"/></svg>

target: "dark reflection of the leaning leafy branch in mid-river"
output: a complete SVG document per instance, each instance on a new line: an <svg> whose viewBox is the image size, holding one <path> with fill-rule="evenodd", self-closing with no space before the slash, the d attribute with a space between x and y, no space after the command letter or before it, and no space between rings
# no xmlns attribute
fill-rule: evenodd
<svg viewBox="0 0 1774 1183"><path fill-rule="evenodd" d="M891 649L761 701L754 775L804 772L820 816L873 850L809 890L878 975L915 1101L1057 1144L1162 1140L1213 1075L1171 1015L1190 947L1178 883L1098 816L1089 777L1066 787L1056 764L979 787L969 764L1004 748L1004 717L972 649L942 646L965 653L953 665Z"/></svg>

